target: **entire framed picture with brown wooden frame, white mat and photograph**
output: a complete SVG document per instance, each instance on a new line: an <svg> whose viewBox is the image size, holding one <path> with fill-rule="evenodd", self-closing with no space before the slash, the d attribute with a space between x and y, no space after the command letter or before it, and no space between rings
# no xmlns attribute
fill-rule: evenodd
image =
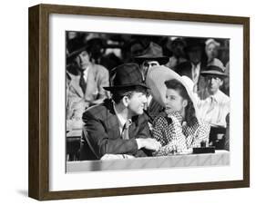
<svg viewBox="0 0 256 205"><path fill-rule="evenodd" d="M29 197L250 186L250 18L29 8Z"/></svg>

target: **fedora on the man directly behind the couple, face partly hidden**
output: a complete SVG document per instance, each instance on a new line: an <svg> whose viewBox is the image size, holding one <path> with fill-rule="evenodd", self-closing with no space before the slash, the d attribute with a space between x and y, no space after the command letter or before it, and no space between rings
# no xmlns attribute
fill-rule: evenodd
<svg viewBox="0 0 256 205"><path fill-rule="evenodd" d="M169 62L169 57L163 55L161 46L153 42L150 42L143 54L135 56L134 59L137 63L143 63L146 60L158 61L160 64Z"/></svg>

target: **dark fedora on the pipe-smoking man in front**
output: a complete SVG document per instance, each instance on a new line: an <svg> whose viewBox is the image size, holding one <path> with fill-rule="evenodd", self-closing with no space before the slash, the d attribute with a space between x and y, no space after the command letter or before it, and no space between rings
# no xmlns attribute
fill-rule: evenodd
<svg viewBox="0 0 256 205"><path fill-rule="evenodd" d="M142 74L139 72L137 63L124 63L118 65L113 69L111 74L109 87L104 87L105 90L115 92L119 90L132 90L141 87L145 90L148 89L147 85L143 82Z"/></svg>

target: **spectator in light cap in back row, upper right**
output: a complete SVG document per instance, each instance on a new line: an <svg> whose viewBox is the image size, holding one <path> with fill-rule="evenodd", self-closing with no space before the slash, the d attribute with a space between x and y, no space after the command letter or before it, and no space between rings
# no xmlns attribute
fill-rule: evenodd
<svg viewBox="0 0 256 205"><path fill-rule="evenodd" d="M210 38L205 42L205 53L207 55L207 65L216 65L220 67L223 71L225 67L223 63L217 58L218 56L218 48L220 47L220 43Z"/></svg>

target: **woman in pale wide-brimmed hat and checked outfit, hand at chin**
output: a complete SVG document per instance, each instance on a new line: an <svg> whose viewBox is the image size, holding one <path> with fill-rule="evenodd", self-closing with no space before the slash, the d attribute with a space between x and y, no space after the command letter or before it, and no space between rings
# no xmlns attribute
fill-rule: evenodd
<svg viewBox="0 0 256 205"><path fill-rule="evenodd" d="M153 137L162 145L155 155L191 151L209 142L210 125L200 121L196 102L187 81L165 66L150 70L147 84L154 98L165 107L153 123Z"/></svg>

